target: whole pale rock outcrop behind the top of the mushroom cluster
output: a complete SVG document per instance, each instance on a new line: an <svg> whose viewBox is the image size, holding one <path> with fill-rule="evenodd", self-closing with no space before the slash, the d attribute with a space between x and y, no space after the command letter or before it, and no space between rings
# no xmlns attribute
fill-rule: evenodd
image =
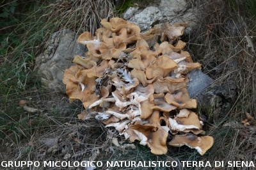
<svg viewBox="0 0 256 170"><path fill-rule="evenodd" d="M171 24L186 22L189 27L185 33L191 31L191 26L194 26L197 20L195 10L188 8L185 0L161 0L160 3L152 4L144 10L130 7L123 17L140 26L141 31L147 30L161 20L167 20Z"/></svg>

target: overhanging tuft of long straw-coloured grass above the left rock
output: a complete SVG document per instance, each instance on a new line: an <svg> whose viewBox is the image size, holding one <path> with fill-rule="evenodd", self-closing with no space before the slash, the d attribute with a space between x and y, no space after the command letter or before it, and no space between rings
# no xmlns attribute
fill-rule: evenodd
<svg viewBox="0 0 256 170"><path fill-rule="evenodd" d="M77 32L90 31L93 34L102 19L113 17L113 2L108 0L57 1L48 8L44 15L49 20L54 19L58 30L68 27Z"/></svg>

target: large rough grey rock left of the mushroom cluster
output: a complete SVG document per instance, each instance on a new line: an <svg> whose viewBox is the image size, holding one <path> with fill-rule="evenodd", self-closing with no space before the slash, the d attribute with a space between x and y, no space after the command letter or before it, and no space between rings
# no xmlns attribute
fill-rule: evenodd
<svg viewBox="0 0 256 170"><path fill-rule="evenodd" d="M49 47L36 58L35 71L42 76L42 87L65 93L63 73L72 65L74 56L83 56L84 52L84 45L76 42L76 34L70 29L54 33Z"/></svg>

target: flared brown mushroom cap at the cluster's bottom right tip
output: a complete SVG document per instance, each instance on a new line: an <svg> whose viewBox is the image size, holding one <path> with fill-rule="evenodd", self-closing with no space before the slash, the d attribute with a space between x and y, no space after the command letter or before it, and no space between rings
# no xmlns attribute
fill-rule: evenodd
<svg viewBox="0 0 256 170"><path fill-rule="evenodd" d="M180 147L185 144L189 146L189 148L195 148L200 155L204 155L204 153L212 147L213 141L213 137L211 136L198 137L194 134L187 134L175 135L168 144L175 147Z"/></svg>

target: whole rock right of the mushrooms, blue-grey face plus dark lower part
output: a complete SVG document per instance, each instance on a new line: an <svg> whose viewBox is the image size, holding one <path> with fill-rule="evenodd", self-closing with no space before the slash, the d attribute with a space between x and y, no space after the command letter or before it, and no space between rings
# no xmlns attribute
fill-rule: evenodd
<svg viewBox="0 0 256 170"><path fill-rule="evenodd" d="M189 72L189 78L189 97L196 98L201 114L205 114L210 122L226 116L237 97L234 81L213 86L214 80L201 70Z"/></svg>

